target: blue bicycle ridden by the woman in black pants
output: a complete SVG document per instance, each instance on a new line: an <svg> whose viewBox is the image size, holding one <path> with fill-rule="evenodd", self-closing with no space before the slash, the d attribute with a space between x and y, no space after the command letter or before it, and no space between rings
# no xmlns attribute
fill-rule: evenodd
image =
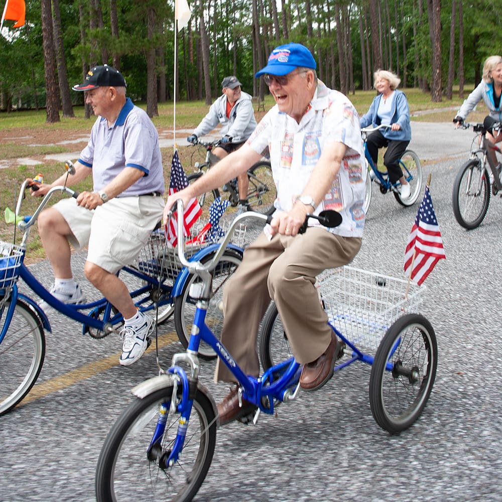
<svg viewBox="0 0 502 502"><path fill-rule="evenodd" d="M369 204L371 203L372 183L379 185L379 189L383 194L392 192L396 200L403 206L412 206L415 204L422 192L422 165L420 164L418 155L413 152L413 150L406 150L401 159L399 159L399 165L401 166L403 175L406 178L406 181L410 184L411 188L410 196L406 199L401 198L401 183L399 183L399 181L392 183L389 180L389 173L387 171L379 171L378 167L374 165L373 160L369 155L368 148L366 146L367 135L373 131L390 127L391 126L380 124L380 126L376 126L375 128L366 127L361 129L361 135L364 141L364 156L366 157L366 164L368 167L368 174L366 176L366 194L364 196L365 214L367 214Z"/></svg>

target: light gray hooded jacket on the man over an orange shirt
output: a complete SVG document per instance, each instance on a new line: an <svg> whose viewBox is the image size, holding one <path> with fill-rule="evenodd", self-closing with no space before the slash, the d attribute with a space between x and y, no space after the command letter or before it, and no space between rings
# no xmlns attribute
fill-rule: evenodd
<svg viewBox="0 0 502 502"><path fill-rule="evenodd" d="M233 143L246 141L257 126L251 96L241 92L230 112L230 118L227 118L226 95L222 94L211 105L207 115L194 129L193 134L200 138L212 131L218 123L221 123L221 136L229 136Z"/></svg>

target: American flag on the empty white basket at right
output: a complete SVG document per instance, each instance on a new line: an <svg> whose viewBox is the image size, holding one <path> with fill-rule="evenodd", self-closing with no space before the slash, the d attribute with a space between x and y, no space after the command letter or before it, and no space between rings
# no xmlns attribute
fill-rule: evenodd
<svg viewBox="0 0 502 502"><path fill-rule="evenodd" d="M420 286L442 258L446 258L446 255L441 232L432 206L431 193L429 187L426 187L424 200L418 208L406 246L405 274Z"/></svg>

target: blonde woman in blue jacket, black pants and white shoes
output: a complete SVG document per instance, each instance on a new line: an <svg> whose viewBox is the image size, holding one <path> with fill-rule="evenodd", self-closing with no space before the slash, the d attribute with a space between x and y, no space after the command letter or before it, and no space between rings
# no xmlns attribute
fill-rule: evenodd
<svg viewBox="0 0 502 502"><path fill-rule="evenodd" d="M390 128L379 129L368 135L369 155L376 165L379 148L387 147L384 165L393 183L401 183L401 198L410 196L410 185L403 176L399 159L411 140L410 107L404 92L397 87L401 79L387 70L377 70L374 75L374 88L379 92L373 99L367 113L361 117L361 128L370 124L373 127L387 124Z"/></svg>

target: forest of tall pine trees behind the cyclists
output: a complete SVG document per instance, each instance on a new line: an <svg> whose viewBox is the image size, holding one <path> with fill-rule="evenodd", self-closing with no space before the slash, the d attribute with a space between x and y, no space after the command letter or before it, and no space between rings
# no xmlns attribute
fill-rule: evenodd
<svg viewBox="0 0 502 502"><path fill-rule="evenodd" d="M433 102L463 97L499 54L502 11L495 0L194 0L176 37L174 0L26 0L26 23L6 21L0 36L0 110L46 110L47 122L73 116L83 93L70 92L90 66L108 63L126 77L128 95L146 102L210 104L221 80L237 75L263 98L255 72L277 45L309 47L319 77L346 94L368 90L377 68ZM2 6L3 7L3 6ZM176 58L176 64L175 64ZM176 68L176 72L175 72ZM85 117L91 115L85 109ZM1 114L0 114L1 117Z"/></svg>

